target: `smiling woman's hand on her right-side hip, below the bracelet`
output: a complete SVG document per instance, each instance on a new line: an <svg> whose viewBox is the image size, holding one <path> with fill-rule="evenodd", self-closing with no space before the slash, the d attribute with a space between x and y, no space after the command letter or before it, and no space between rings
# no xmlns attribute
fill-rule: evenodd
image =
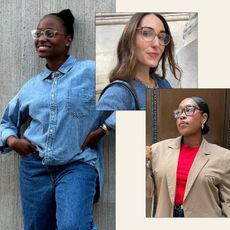
<svg viewBox="0 0 230 230"><path fill-rule="evenodd" d="M105 135L105 131L102 128L98 128L88 134L84 143L81 146L80 151L83 152L85 148L96 148L98 141Z"/></svg>

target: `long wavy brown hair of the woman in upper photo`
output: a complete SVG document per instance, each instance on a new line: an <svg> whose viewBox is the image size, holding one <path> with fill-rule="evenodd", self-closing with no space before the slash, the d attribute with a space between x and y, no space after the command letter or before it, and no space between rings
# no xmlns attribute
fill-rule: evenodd
<svg viewBox="0 0 230 230"><path fill-rule="evenodd" d="M147 14L154 14L157 16L163 23L165 32L170 35L171 40L170 43L165 46L165 50L161 57L161 72L162 78L165 78L166 74L166 61L168 60L170 71L176 79L181 78L181 71L179 66L176 64L174 59L174 42L171 35L171 31L169 29L168 23L164 19L164 17L158 13L136 13L134 14L127 25L124 28L122 36L119 40L117 46L117 65L111 71L109 75L110 82L115 80L133 80L134 79L134 68L137 63L136 55L135 55L135 45L134 38L136 34L136 30L139 27L140 21ZM158 63L159 65L159 63ZM153 74L157 67L150 68L150 74Z"/></svg>

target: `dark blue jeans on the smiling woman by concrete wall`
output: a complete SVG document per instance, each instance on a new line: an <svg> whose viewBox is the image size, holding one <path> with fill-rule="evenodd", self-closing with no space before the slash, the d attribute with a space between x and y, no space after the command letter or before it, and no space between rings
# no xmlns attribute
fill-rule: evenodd
<svg viewBox="0 0 230 230"><path fill-rule="evenodd" d="M21 157L25 230L96 230L93 199L97 170L83 162L44 166L38 154Z"/></svg>

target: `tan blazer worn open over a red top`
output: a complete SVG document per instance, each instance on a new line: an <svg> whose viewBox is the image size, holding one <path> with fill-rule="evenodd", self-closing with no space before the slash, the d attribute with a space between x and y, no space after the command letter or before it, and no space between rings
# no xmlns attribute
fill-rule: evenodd
<svg viewBox="0 0 230 230"><path fill-rule="evenodd" d="M181 137L153 144L147 194L157 195L155 217L172 217ZM230 217L230 150L203 139L184 194L185 217Z"/></svg>

